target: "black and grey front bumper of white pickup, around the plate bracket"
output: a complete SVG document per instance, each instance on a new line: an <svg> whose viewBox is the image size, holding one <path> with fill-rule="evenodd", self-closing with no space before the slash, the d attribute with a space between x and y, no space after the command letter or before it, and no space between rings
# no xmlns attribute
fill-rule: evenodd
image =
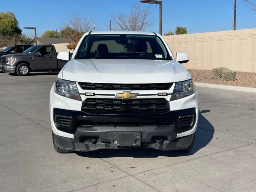
<svg viewBox="0 0 256 192"><path fill-rule="evenodd" d="M160 150L184 149L191 144L194 134L177 138L177 133L193 128L194 120L188 128L182 128L180 124L179 118L188 115L196 119L196 109L171 111L151 116L88 116L80 111L55 108L56 128L74 135L74 139L57 136L56 143L61 148L74 151L120 148L113 145L114 133L138 133L141 143L136 147Z"/></svg>

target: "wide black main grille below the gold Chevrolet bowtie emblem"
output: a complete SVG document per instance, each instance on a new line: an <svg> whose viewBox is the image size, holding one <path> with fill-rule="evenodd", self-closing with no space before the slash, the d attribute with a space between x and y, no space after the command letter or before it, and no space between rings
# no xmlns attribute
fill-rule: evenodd
<svg viewBox="0 0 256 192"><path fill-rule="evenodd" d="M95 115L142 115L164 114L170 111L169 102L159 99L94 99L87 98L82 104L82 111Z"/></svg>

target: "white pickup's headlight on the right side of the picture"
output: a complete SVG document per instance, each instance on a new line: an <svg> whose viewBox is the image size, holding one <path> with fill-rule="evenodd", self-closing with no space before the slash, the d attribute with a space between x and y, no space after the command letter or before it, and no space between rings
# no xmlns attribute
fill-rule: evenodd
<svg viewBox="0 0 256 192"><path fill-rule="evenodd" d="M175 83L171 100L184 98L186 96L192 95L194 92L195 86L192 79Z"/></svg>

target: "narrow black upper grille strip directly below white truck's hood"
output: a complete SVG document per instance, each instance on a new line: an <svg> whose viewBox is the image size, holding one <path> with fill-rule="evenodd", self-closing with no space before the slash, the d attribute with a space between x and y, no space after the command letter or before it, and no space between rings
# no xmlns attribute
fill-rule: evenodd
<svg viewBox="0 0 256 192"><path fill-rule="evenodd" d="M84 90L168 90L172 83L157 84L101 84L101 83L78 83Z"/></svg>

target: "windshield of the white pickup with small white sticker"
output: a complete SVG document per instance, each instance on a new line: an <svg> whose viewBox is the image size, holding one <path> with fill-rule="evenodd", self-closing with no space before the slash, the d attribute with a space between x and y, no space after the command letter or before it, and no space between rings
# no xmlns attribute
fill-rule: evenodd
<svg viewBox="0 0 256 192"><path fill-rule="evenodd" d="M76 58L172 60L158 36L122 34L86 36Z"/></svg>

